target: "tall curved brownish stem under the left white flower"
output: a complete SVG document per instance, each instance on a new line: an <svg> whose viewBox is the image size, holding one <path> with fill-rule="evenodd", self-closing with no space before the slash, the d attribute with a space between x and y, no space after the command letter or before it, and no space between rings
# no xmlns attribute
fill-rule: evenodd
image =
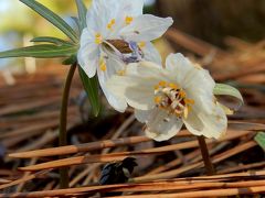
<svg viewBox="0 0 265 198"><path fill-rule="evenodd" d="M75 73L77 64L74 63L71 65L68 75L63 89L62 105L61 105L61 113L60 113L60 146L67 145L67 135L66 135L66 124L67 124L67 107L68 107L68 97L70 97L70 88L72 84L72 79ZM68 187L68 168L62 167L60 168L60 187L67 188Z"/></svg>

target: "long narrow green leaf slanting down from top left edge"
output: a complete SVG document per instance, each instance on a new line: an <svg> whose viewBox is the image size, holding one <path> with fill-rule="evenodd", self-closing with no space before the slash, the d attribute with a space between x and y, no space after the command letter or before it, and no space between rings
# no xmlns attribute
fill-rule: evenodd
<svg viewBox="0 0 265 198"><path fill-rule="evenodd" d="M20 0L22 3L30 7L32 10L38 12L40 15L50 21L54 26L60 29L65 35L67 35L73 42L77 43L78 38L75 31L56 13L49 10L46 7L36 2L35 0Z"/></svg>

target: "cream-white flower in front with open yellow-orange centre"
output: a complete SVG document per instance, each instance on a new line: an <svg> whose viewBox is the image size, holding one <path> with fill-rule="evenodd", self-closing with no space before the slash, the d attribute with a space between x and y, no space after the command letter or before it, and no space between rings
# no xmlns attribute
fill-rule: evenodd
<svg viewBox="0 0 265 198"><path fill-rule="evenodd" d="M215 86L209 72L181 54L171 54L166 68L141 62L127 66L125 76L113 76L109 90L124 96L135 116L147 124L147 136L165 141L184 123L195 135L219 139L227 118L213 95Z"/></svg>

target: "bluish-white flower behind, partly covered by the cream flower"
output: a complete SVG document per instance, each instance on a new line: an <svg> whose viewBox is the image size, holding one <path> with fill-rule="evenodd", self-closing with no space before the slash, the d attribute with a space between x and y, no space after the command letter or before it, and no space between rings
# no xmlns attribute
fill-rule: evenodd
<svg viewBox="0 0 265 198"><path fill-rule="evenodd" d="M97 73L109 103L124 111L127 103L113 96L106 80L123 74L125 64L145 58L160 63L160 55L150 41L160 37L172 19L142 14L144 0L94 0L87 12L87 28L81 36L77 59L91 78Z"/></svg>

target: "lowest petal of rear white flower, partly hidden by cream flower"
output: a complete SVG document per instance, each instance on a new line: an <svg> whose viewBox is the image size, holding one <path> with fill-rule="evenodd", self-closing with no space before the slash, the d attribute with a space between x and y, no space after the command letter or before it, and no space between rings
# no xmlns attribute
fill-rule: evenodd
<svg viewBox="0 0 265 198"><path fill-rule="evenodd" d="M127 108L127 102L123 96L114 95L110 90L108 90L106 86L106 81L114 75L115 73L115 66L118 64L113 64L113 62L107 63L107 70L103 72L98 68L98 81L103 89L103 92L106 96L106 99L108 100L109 105L117 111L124 112ZM121 66L120 66L121 67Z"/></svg>

